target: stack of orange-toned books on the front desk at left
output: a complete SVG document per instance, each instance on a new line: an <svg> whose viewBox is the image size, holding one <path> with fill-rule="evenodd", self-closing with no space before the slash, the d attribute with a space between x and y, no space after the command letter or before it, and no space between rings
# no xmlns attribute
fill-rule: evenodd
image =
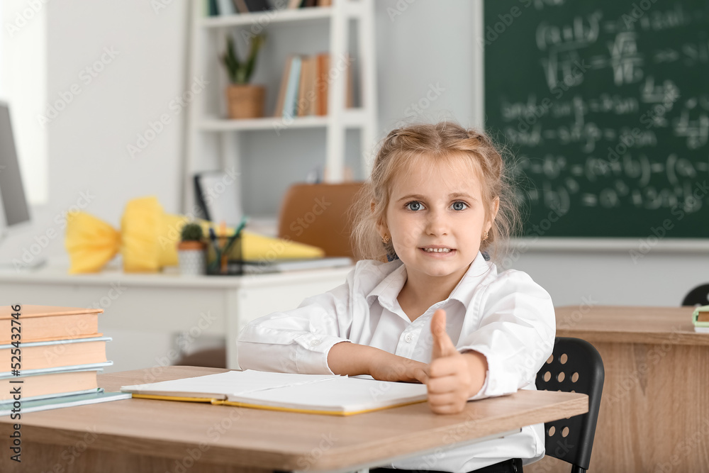
<svg viewBox="0 0 709 473"><path fill-rule="evenodd" d="M99 333L101 312L0 306L0 416L128 397L104 392L96 379L113 364L106 360L111 338Z"/></svg>

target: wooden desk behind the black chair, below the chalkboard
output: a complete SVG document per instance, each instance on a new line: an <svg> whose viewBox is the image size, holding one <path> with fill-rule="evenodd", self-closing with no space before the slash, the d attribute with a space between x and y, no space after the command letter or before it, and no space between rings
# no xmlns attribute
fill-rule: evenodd
<svg viewBox="0 0 709 473"><path fill-rule="evenodd" d="M605 385L591 472L709 469L709 333L690 307L557 307L557 336L593 343ZM526 471L526 469L525 469ZM553 458L530 472L568 472Z"/></svg>

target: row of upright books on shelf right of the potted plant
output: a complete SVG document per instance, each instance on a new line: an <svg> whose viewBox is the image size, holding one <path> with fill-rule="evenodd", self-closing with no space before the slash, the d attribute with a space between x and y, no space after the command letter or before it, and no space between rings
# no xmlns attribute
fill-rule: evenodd
<svg viewBox="0 0 709 473"><path fill-rule="evenodd" d="M328 89L330 89L330 69L340 74L344 69L346 77L345 106L353 106L353 90L350 67L352 58L345 55L332 64L328 53L318 55L289 55L286 58L284 74L281 78L278 101L274 116L294 118L296 116L325 116L328 114Z"/></svg>

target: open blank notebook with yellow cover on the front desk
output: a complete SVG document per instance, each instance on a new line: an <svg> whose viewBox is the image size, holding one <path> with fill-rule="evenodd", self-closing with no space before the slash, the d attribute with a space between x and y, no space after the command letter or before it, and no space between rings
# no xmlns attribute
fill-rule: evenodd
<svg viewBox="0 0 709 473"><path fill-rule="evenodd" d="M368 378L368 379L367 379ZM150 384L122 386L133 397L350 416L427 399L425 384L371 377L230 371Z"/></svg>

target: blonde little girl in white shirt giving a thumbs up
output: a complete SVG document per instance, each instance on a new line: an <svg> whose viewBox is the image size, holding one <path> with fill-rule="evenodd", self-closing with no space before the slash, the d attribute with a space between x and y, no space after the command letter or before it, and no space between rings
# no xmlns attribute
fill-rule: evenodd
<svg viewBox="0 0 709 473"><path fill-rule="evenodd" d="M437 414L535 389L554 345L551 298L486 260L518 222L510 194L486 135L450 121L391 131L357 199L346 282L245 326L240 367L421 382ZM543 455L539 424L375 470L521 472Z"/></svg>

